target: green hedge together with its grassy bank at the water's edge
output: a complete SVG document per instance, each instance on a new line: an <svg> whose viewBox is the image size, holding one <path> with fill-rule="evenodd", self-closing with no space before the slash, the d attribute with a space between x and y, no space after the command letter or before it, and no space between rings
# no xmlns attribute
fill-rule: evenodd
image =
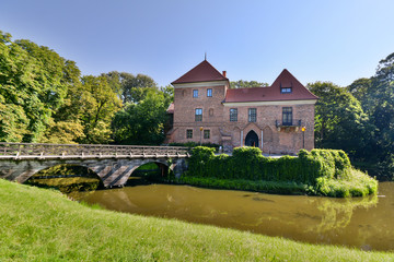
<svg viewBox="0 0 394 262"><path fill-rule="evenodd" d="M378 181L355 169L343 151L300 151L298 157L269 158L257 147L237 147L233 155L215 155L208 147L193 150L189 168L178 180L193 186L268 193L366 196Z"/></svg>

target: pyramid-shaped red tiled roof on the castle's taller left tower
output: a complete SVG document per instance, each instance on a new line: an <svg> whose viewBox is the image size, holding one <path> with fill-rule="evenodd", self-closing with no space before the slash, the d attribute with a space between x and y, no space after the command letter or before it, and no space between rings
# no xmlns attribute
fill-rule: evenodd
<svg viewBox="0 0 394 262"><path fill-rule="evenodd" d="M212 67L207 60L204 60L190 71L172 82L171 84L194 83L194 82L208 82L229 80L223 76L216 68Z"/></svg>

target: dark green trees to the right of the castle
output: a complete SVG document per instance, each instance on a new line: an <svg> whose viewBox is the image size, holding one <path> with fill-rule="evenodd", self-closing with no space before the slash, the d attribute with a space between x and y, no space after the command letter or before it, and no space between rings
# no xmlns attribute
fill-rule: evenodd
<svg viewBox="0 0 394 262"><path fill-rule="evenodd" d="M379 62L375 75L346 88L321 82L309 87L320 96L316 146L345 150L373 166L373 175L394 179L394 53Z"/></svg>

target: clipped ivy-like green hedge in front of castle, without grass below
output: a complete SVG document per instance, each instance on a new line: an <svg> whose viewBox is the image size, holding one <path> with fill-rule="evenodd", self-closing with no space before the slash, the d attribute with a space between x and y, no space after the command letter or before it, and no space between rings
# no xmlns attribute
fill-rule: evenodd
<svg viewBox="0 0 394 262"><path fill-rule="evenodd" d="M252 181L292 181L315 186L317 178L346 179L351 170L348 156L337 150L301 150L298 157L270 158L257 147L237 147L233 155L213 154L213 148L192 151L185 176Z"/></svg>

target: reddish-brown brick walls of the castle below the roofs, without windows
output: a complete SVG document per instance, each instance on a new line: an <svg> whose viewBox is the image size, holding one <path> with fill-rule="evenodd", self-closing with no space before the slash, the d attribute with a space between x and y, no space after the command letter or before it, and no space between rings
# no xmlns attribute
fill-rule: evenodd
<svg viewBox="0 0 394 262"><path fill-rule="evenodd" d="M207 97L207 90L212 88L212 97ZM264 88L264 87L262 87ZM198 90L198 97L193 91ZM169 142L196 142L221 144L227 150L244 145L250 131L258 135L258 147L264 153L296 154L304 147L314 148L314 105L265 105L265 106L224 106L227 85L175 87L174 126ZM277 128L276 120L281 122L282 107L292 107L294 120L301 120L300 127ZM202 109L202 121L195 121L195 109ZM237 121L230 122L230 108L237 108ZM256 108L257 121L248 122L248 108ZM294 122L296 123L296 122ZM200 131L210 131L210 138L204 139ZM186 138L186 130L193 130L193 138ZM263 131L263 147L262 147ZM242 141L241 141L242 135Z"/></svg>

